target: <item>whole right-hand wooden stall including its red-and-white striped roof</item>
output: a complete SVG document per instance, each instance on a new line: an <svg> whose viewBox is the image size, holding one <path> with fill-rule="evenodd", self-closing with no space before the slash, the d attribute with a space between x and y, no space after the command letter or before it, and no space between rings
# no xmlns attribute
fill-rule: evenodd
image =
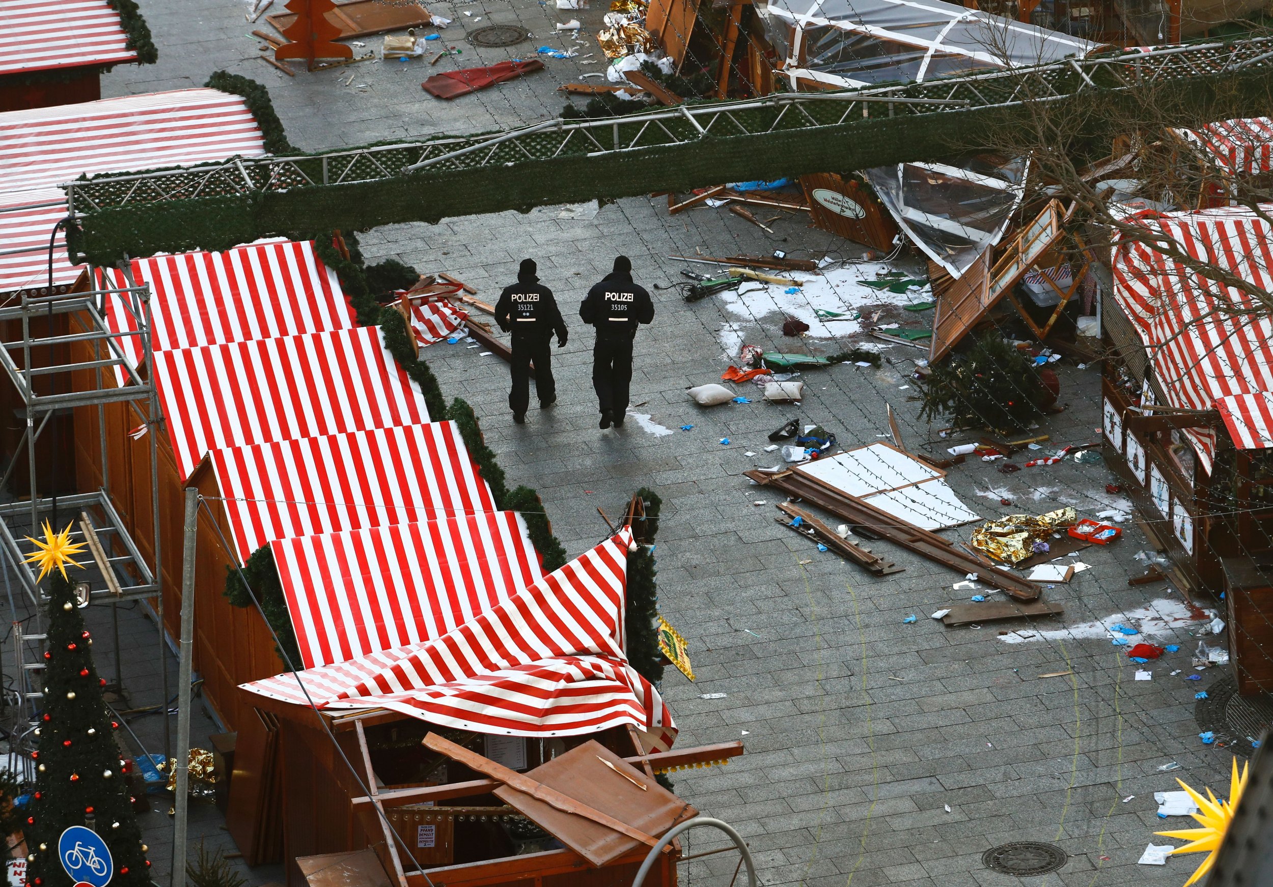
<svg viewBox="0 0 1273 887"><path fill-rule="evenodd" d="M1268 291L1273 230L1242 209L1144 219L1195 258ZM1208 246L1204 246L1208 244ZM1206 253L1202 251L1207 249ZM1248 255L1254 249L1256 255ZM1186 588L1225 593L1239 690L1273 690L1273 322L1124 238L1105 299L1104 434L1146 529Z"/></svg>

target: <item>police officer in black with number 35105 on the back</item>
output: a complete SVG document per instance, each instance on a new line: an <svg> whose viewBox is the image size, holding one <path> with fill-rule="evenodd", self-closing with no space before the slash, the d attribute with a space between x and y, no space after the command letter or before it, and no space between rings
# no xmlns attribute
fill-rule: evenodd
<svg viewBox="0 0 1273 887"><path fill-rule="evenodd" d="M633 378L633 339L638 325L654 319L654 303L633 283L633 263L626 256L619 256L614 271L588 290L579 317L597 328L592 387L601 406L600 428L622 428Z"/></svg>

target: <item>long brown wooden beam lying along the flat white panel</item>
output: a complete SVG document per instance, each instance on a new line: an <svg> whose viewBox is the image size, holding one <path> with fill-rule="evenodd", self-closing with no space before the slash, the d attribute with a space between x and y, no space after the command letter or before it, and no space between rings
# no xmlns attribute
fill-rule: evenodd
<svg viewBox="0 0 1273 887"><path fill-rule="evenodd" d="M866 527L881 538L937 561L956 573L976 573L985 584L1007 592L1020 601L1034 601L1043 590L1037 584L1007 570L997 566L985 566L980 560L956 548L948 540L937 533L901 520L887 512L880 510L871 503L819 484L816 480L806 477L799 472L785 471L778 475L769 475L763 471L745 471L743 475L761 486L773 486L788 495L812 503L831 514L844 518L850 526Z"/></svg>

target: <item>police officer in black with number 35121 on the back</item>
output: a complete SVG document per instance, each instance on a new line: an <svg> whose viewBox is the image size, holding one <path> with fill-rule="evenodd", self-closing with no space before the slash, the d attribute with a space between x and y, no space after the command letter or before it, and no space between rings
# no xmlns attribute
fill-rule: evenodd
<svg viewBox="0 0 1273 887"><path fill-rule="evenodd" d="M552 379L550 340L555 332L558 347L565 347L565 321L552 298L552 290L540 283L535 260L522 260L517 283L505 286L495 303L495 322L504 332L513 333L513 356L509 372L513 388L508 392L508 407L513 421L526 421L526 407L531 402L531 363L535 363L535 389L540 407L556 402L556 382Z"/></svg>

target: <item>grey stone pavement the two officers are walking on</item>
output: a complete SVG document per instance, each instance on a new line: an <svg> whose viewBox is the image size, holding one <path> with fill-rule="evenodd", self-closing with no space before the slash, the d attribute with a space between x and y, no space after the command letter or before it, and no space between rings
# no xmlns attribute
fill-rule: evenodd
<svg viewBox="0 0 1273 887"><path fill-rule="evenodd" d="M117 69L104 80L107 94L197 85L213 69L228 67L269 85L289 136L308 149L532 122L556 113L556 85L589 70L577 60L549 60L549 71L524 81L443 103L419 90L426 74L418 62L363 64L294 79L276 74L252 59L255 42L244 36L251 27L237 3L143 0L141 6L162 61ZM560 18L530 0L435 9L456 19L446 34L460 46L457 28L489 22L521 22L547 33L551 20L569 15L594 27L601 6ZM472 15L460 14L463 10ZM523 46L545 42L536 37ZM471 55L477 53L465 45L463 64L471 64ZM494 61L510 53L484 51L477 57ZM341 85L350 74L351 85ZM369 84L365 92L356 89L362 83ZM690 683L670 672L663 682L681 729L679 742L742 738L747 746L747 753L726 767L677 774L677 790L704 813L740 828L766 884L1181 883L1193 868L1188 860L1164 868L1136 860L1147 842L1164 840L1151 836L1162 827L1153 792L1175 788L1176 775L1194 785L1225 784L1228 758L1200 744L1193 718L1193 694L1220 672L1204 672L1200 682L1170 674L1188 671L1199 624L1160 634L1161 643L1179 643L1181 652L1147 666L1153 672L1150 682L1133 680L1136 667L1108 639L1082 636L1095 631L1040 634L1115 615L1130 621L1153 601L1180 597L1162 583L1128 587L1128 576L1141 571L1132 555L1144 547L1133 526L1127 524L1116 546L1082 552L1092 569L1046 592L1064 604L1062 618L947 629L928 613L966 599L966 592L952 589L962 576L885 542L875 543L876 550L905 571L871 576L779 527L773 508L779 498L741 476L777 461L763 447L765 435L785 419L821 423L849 447L881 439L886 403L897 411L909 447L939 452L947 442L917 419L909 400L915 391L906 388L911 361L922 351L885 349L880 369L843 364L811 372L798 409L761 403L757 391L751 395L756 402L703 410L689 402L685 388L719 378L727 344L742 340L766 350L802 345L780 335L780 314L735 313L719 299L686 304L675 290L658 290L654 325L636 340L633 379L634 410L648 416L652 430L635 419L619 431L597 430L592 336L578 322L575 307L616 253L630 256L636 279L652 286L679 280L685 265L670 255L775 247L797 256L855 252L801 219L773 223L775 238L785 238L777 242L718 210L668 218L661 202L624 200L594 218L574 219L545 207L528 215L398 225L360 237L369 260L392 256L421 271L449 271L488 299L513 279L518 260L533 256L544 283L556 291L572 327L568 347L554 351L560 405L532 410L527 425L512 423L504 401L507 368L498 359L462 345L433 346L425 356L444 392L475 406L509 481L540 491L572 555L606 534L598 506L612 518L643 485L663 496L659 603L689 639L698 674ZM827 353L836 344L816 347ZM1097 372L1069 361L1058 372L1068 409L1043 423L1043 433L1058 444L1095 440ZM740 387L741 393L749 391ZM1060 504L1091 514L1118 504L1118 496L1104 491L1111 477L1100 464L1062 463L1011 476L994 468L974 461L950 475L962 500L983 517L1040 513ZM1002 499L1013 504L1002 505ZM947 534L966 540L966 533ZM917 622L904 622L910 613ZM150 631L144 641L149 649L153 629L141 622L134 627L130 638L137 643ZM1001 634L1013 630L1031 636ZM1041 677L1057 672L1068 673ZM146 680L157 681L154 674ZM704 699L715 694L724 696ZM1179 772L1158 770L1171 761L1181 765ZM199 827L223 840L214 816ZM981 864L987 849L1021 840L1054 841L1071 859L1058 873L1039 878L999 876ZM714 839L699 836L690 844L694 850L717 846ZM686 865L684 876L691 884L724 884L733 865L733 858L722 854ZM261 883L278 876L251 877Z"/></svg>

